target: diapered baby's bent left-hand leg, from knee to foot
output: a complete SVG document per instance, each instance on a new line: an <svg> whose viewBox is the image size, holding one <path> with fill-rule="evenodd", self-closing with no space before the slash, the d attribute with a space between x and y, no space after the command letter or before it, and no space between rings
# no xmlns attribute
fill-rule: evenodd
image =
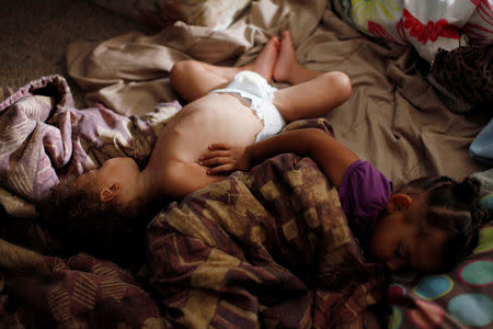
<svg viewBox="0 0 493 329"><path fill-rule="evenodd" d="M273 37L255 60L243 67L222 67L197 60L179 61L170 72L171 84L186 101L194 101L226 87L241 70L255 71L271 81L278 46L278 38Z"/></svg>

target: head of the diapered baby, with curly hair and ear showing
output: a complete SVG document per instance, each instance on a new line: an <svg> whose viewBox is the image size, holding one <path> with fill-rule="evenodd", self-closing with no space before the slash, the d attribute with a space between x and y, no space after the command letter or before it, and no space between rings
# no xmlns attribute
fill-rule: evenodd
<svg viewBox="0 0 493 329"><path fill-rule="evenodd" d="M145 237L149 222L147 203L136 186L139 172L131 158L110 159L96 170L60 182L43 202L41 213L62 245L79 249L74 251L121 254L122 245Z"/></svg>

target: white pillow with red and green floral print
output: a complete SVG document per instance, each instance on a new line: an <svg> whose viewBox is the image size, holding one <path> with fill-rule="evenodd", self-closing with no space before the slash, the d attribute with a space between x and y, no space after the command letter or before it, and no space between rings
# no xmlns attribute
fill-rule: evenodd
<svg viewBox="0 0 493 329"><path fill-rule="evenodd" d="M332 0L335 11L358 31L398 44L413 46L432 61L437 49L463 44L488 45L493 41L493 0Z"/></svg>

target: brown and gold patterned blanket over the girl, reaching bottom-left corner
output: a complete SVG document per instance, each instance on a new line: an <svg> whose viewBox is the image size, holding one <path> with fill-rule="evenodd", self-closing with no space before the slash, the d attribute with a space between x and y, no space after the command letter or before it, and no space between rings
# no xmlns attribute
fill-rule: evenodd
<svg viewBox="0 0 493 329"><path fill-rule="evenodd" d="M148 235L149 284L88 254L21 250L10 270L23 274L7 280L18 309L2 309L2 325L378 326L382 272L365 263L335 189L309 158L282 155L192 193L159 213Z"/></svg>

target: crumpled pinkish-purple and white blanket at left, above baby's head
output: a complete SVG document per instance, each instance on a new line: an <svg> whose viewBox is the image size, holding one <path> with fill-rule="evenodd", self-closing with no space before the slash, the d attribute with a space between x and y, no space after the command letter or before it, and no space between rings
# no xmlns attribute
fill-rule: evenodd
<svg viewBox="0 0 493 329"><path fill-rule="evenodd" d="M30 203L46 196L60 178L111 157L144 163L157 133L179 109L176 102L160 104L129 117L100 105L78 110L61 76L31 81L0 103L0 188Z"/></svg>

